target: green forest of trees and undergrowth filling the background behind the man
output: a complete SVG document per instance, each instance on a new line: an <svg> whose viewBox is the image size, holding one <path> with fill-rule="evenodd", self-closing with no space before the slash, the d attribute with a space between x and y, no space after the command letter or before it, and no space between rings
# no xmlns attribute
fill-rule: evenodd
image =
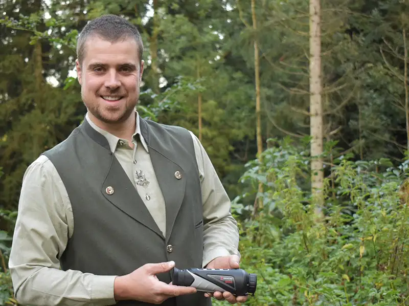
<svg viewBox="0 0 409 306"><path fill-rule="evenodd" d="M0 304L22 176L83 119L76 38L106 13L143 36L140 114L229 193L246 304L409 304L407 0L1 0Z"/></svg>

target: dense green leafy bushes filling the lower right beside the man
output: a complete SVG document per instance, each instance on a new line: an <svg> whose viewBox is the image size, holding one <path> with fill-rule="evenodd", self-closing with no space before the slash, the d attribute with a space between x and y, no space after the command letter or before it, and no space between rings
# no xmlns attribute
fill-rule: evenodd
<svg viewBox="0 0 409 306"><path fill-rule="evenodd" d="M322 218L306 183L303 148L285 139L264 152L262 164L247 166L242 182L255 190L263 182L265 205L251 217L253 208L240 204L246 194L234 201L241 268L258 275L246 304L409 304L407 162L395 168L387 159L334 160Z"/></svg>

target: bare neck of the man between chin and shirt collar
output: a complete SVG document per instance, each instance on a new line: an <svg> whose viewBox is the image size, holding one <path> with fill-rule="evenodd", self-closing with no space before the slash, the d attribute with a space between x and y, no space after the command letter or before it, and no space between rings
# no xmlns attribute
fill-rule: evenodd
<svg viewBox="0 0 409 306"><path fill-rule="evenodd" d="M93 114L88 112L89 119L94 122L99 128L105 130L106 132L115 135L119 138L127 140L131 143L132 135L135 133L136 125L136 114L132 114L125 120L116 123L106 123L97 119Z"/></svg>

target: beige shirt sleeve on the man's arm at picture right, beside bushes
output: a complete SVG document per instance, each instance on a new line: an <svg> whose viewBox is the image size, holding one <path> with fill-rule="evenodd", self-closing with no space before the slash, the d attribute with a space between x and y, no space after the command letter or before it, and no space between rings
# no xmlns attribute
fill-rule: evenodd
<svg viewBox="0 0 409 306"><path fill-rule="evenodd" d="M206 267L216 257L238 255L239 231L231 214L231 202L199 139L190 132L199 168L203 202L203 261Z"/></svg>

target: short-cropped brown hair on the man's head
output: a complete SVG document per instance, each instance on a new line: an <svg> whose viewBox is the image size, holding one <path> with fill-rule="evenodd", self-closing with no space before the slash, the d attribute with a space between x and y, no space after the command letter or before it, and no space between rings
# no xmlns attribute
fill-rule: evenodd
<svg viewBox="0 0 409 306"><path fill-rule="evenodd" d="M138 45L139 61L142 61L144 46L137 27L122 17L108 14L89 21L79 34L77 41L77 58L80 64L84 59L86 39L94 35L110 42L117 41L121 38L134 38Z"/></svg>

